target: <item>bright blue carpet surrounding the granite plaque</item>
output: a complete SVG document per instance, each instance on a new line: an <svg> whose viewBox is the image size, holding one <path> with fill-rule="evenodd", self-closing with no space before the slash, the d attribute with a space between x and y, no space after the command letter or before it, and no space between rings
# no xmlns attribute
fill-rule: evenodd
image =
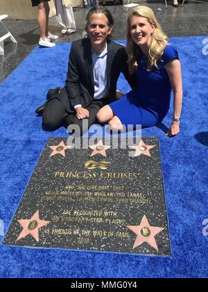
<svg viewBox="0 0 208 292"><path fill-rule="evenodd" d="M208 236L208 56L203 37L172 38L180 54L184 88L181 133L167 138L171 111L160 127L143 136L159 136L172 257L0 246L0 277L207 277ZM49 88L64 85L70 44L36 47L0 87L0 219L8 229L42 149L49 137L67 136L64 128L42 130L34 109ZM123 76L117 86L127 91ZM204 232L205 234L205 232ZM0 234L1 235L1 234ZM3 237L0 237L1 241Z"/></svg>

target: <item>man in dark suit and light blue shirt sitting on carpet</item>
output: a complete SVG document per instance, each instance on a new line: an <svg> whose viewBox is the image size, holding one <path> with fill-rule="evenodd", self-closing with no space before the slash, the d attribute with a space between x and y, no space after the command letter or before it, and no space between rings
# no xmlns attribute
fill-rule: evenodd
<svg viewBox="0 0 208 292"><path fill-rule="evenodd" d="M46 129L78 124L84 133L95 122L99 109L116 100L116 82L121 72L132 88L136 86L136 76L128 73L125 47L110 40L114 24L110 11L94 7L86 20L88 38L71 45L66 86L44 104ZM87 129L83 129L84 119L88 121Z"/></svg>

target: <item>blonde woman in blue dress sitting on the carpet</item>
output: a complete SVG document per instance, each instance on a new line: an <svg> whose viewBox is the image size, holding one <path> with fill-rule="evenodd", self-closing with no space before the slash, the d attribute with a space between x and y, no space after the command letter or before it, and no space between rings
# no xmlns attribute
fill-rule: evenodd
<svg viewBox="0 0 208 292"><path fill-rule="evenodd" d="M130 124L153 127L168 113L173 90L173 121L166 135L177 135L182 110L180 60L150 8L138 6L130 12L126 50L129 71L137 72L137 87L101 108L97 120L114 130Z"/></svg>

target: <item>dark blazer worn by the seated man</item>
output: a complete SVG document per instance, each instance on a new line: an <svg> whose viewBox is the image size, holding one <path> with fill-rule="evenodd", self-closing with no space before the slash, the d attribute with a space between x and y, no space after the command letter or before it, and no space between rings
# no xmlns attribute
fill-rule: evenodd
<svg viewBox="0 0 208 292"><path fill-rule="evenodd" d="M137 85L137 77L128 73L125 47L111 40L107 41L107 87L110 102L116 100L116 83L122 72L131 88ZM102 68L101 68L102 70ZM94 99L94 75L92 48L89 38L76 40L71 44L66 86L58 95L60 102L69 113L73 106L81 104L84 108Z"/></svg>

